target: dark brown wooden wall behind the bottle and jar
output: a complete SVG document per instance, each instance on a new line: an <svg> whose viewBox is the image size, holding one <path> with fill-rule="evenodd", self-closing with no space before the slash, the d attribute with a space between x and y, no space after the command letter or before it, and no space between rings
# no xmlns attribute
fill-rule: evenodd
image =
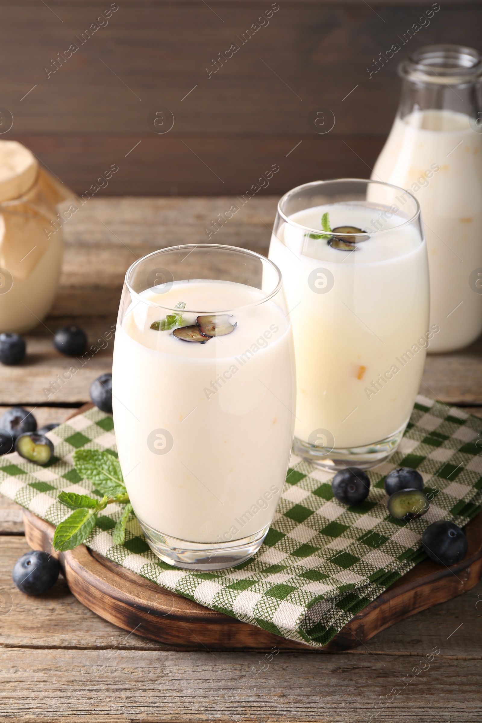
<svg viewBox="0 0 482 723"><path fill-rule="evenodd" d="M371 78L367 67L432 0L279 0L244 45L238 36L272 0L117 4L81 45L110 0L0 0L0 106L14 119L0 138L25 142L79 194L116 164L99 197L239 194L273 163L280 171L262 193L369 176L397 107L400 59L429 43L481 47L480 2L440 0L428 27ZM79 50L48 77L71 43ZM208 77L232 43L239 51ZM156 108L173 114L171 131L148 126ZM314 127L322 108L335 116L326 134Z"/></svg>

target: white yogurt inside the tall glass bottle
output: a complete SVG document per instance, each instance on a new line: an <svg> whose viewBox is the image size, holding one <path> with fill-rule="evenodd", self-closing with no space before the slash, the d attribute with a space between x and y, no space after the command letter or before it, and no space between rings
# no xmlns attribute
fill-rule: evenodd
<svg viewBox="0 0 482 723"><path fill-rule="evenodd" d="M468 116L418 111L396 118L372 178L416 194L429 252L431 351L470 344L482 331L482 295L470 274L482 268L482 134Z"/></svg>

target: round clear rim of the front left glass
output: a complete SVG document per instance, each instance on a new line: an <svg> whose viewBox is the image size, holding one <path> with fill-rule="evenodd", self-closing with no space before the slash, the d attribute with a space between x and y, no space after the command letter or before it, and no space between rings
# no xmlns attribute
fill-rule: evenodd
<svg viewBox="0 0 482 723"><path fill-rule="evenodd" d="M241 307L231 307L229 309L219 309L218 311L213 312L212 309L185 309L185 312L188 314L196 314L196 313L210 313L210 314L228 314L228 312L236 312L241 309L249 309L251 307L259 307L260 304L264 304L265 301L270 301L270 299L273 298L273 296L276 296L276 294L279 293L281 288L283 287L283 277L281 275L280 269L277 267L275 263L272 262L272 260L268 259L267 257L263 256L262 254L257 253L256 251L251 251L250 249L244 249L242 247L238 246L228 246L228 244L178 244L176 246L168 246L165 247L165 249L156 249L155 251L150 252L150 254L146 254L145 256L142 256L140 259L137 259L137 261L134 261L129 268L126 270L126 275L124 276L124 284L126 288L129 290L129 294L131 294L132 298L137 299L138 301L142 301L142 304L147 304L147 306L153 307L155 309L165 309L166 311L176 312L179 313L179 309L176 309L175 307L168 307L164 304L158 304L155 301L152 301L150 299L146 299L144 296L142 296L142 292L135 291L134 288L132 288L131 283L129 282L130 275L134 272L134 269L139 265L141 262L145 261L151 256L155 256L155 254L163 254L164 252L168 251L178 251L181 249L191 249L189 253L194 251L194 249L223 249L224 251L234 251L238 254L249 256L251 258L256 258L261 262L267 262L274 270L275 273L277 273L277 284L275 288L272 289L268 294L265 294L262 299L259 299L258 301L253 301L251 304L244 304ZM183 280L179 280L183 281ZM189 279L184 279L184 281L190 281ZM220 281L220 279L192 279L191 281ZM170 283L170 282L168 282ZM173 281L173 283L175 283ZM228 283L239 283L236 281L229 281ZM248 284L242 284L242 286L248 286ZM149 287L152 288L152 287ZM250 287L254 288L254 287ZM147 288L144 289L144 291L147 291ZM261 291L261 289L259 290ZM162 294L159 294L161 296Z"/></svg>

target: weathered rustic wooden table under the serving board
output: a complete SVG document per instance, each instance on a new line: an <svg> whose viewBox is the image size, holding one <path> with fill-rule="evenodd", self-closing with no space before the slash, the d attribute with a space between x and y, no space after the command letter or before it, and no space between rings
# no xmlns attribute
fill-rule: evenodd
<svg viewBox="0 0 482 723"><path fill-rule="evenodd" d="M34 408L61 422L110 371L111 344L55 395L44 389L68 369L51 333L72 321L90 343L116 318L126 268L173 244L207 241L205 228L231 198L92 199L66 224L66 254L51 316L27 335L27 359L1 367L0 406ZM211 240L266 253L277 199L253 198ZM481 341L429 356L421 392L482 416ZM387 628L343 654L176 651L106 623L82 607L63 578L36 599L12 583L27 552L22 513L0 497L0 711L3 721L482 722L482 584ZM408 678L439 650L430 667ZM405 681L404 681L405 679ZM400 692L395 695L392 688Z"/></svg>

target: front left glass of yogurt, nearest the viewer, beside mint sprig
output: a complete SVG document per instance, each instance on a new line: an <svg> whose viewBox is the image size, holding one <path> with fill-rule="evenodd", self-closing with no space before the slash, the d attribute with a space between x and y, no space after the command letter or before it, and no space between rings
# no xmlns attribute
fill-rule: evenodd
<svg viewBox="0 0 482 723"><path fill-rule="evenodd" d="M293 442L280 270L218 244L138 260L126 273L112 377L119 461L151 549L198 570L254 555Z"/></svg>

